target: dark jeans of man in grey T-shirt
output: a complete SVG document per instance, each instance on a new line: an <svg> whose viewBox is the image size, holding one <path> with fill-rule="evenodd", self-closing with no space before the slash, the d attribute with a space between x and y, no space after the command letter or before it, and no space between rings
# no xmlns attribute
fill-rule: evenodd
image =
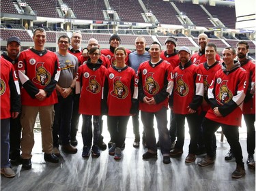
<svg viewBox="0 0 256 191"><path fill-rule="evenodd" d="M58 101L59 103L54 105L55 116L53 122L53 147L59 147L59 138L63 145L68 145L70 142L73 99L72 96L68 96L66 98L58 96Z"/></svg>

